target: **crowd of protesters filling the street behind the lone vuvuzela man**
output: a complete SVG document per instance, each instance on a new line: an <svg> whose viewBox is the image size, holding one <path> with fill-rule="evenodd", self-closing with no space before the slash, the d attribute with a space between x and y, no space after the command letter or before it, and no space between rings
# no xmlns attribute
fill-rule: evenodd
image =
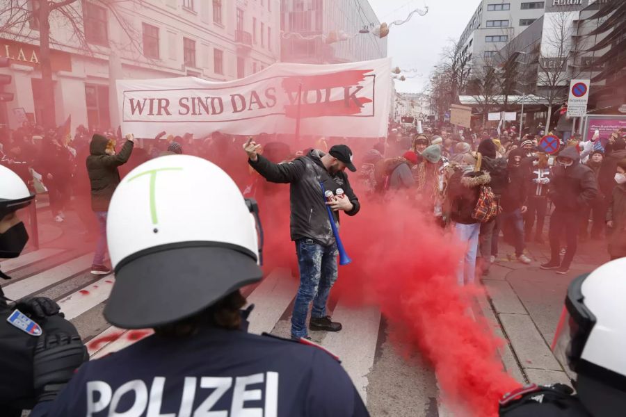
<svg viewBox="0 0 626 417"><path fill-rule="evenodd" d="M542 129L539 125L532 130L543 134ZM459 284L474 282L476 273L488 275L498 256L500 234L522 263L531 263L525 247L529 241L548 241L551 258L541 267L559 273L568 272L579 240L606 239L611 258L626 256L624 132L614 132L609 140L594 135L587 142L575 135L561 141L559 152L549 155L538 145L540 136L527 131L520 134L510 126L501 131L426 129L417 133L415 128L390 124L387 138L380 138L369 151L355 154L359 168L355 182L370 199L406 193L415 200L417 209L433 216L433 221L442 227L454 225L458 238L467 245ZM94 148L96 136L98 149ZM326 138L308 139L301 143L312 147L293 152L299 144L294 144L292 137L262 133L256 138L264 145L262 152L276 163L290 161L310 149L328 152L332 145ZM163 131L125 149L119 129L90 131L78 126L72 136L62 127L44 131L24 124L2 132L0 159L27 183L45 187L56 222L65 220L72 200L86 230L104 234L106 223L94 222L91 213L104 210L93 205L94 178L84 168L90 154L117 155L115 173L101 172L95 178L96 182L114 183L109 197L119 177L151 158L168 154L206 158L227 170L246 195L254 196L254 175L248 167L233 163L245 140L244 136L219 132L194 138L191 133L174 136ZM489 213L490 204L496 207L495 212ZM481 215L481 211L487 214ZM101 264L101 258L99 255L95 264ZM95 273L98 269L108 272L97 267Z"/></svg>

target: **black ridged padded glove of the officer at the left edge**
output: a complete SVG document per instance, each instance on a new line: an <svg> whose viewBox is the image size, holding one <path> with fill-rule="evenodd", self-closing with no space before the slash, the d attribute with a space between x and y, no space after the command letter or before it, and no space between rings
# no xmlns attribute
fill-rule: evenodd
<svg viewBox="0 0 626 417"><path fill-rule="evenodd" d="M63 332L42 336L33 357L33 383L38 402L54 400L70 382L74 371L88 359L80 336Z"/></svg>

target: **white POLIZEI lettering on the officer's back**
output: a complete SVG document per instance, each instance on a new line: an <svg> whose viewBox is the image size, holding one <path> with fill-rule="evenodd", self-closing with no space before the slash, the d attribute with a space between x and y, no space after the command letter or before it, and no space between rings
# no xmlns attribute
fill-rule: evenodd
<svg viewBox="0 0 626 417"><path fill-rule="evenodd" d="M164 400L163 392L176 394ZM86 416L277 417L278 373L185 377L174 386L168 384L166 377L154 377L150 386L134 379L115 391L104 381L90 381Z"/></svg>

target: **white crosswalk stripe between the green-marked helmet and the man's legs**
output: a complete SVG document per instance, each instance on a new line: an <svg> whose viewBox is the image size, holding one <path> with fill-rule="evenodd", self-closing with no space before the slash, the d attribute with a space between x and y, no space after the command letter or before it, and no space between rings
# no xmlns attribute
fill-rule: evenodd
<svg viewBox="0 0 626 417"><path fill-rule="evenodd" d="M262 334L271 332L280 316L296 296L298 284L286 269L275 269L248 296L248 303L255 304L250 313L248 332ZM271 302L267 302L271 300Z"/></svg>

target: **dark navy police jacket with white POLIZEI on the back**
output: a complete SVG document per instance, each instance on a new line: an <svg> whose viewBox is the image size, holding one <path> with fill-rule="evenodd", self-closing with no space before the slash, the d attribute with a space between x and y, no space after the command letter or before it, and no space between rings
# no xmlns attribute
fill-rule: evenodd
<svg viewBox="0 0 626 417"><path fill-rule="evenodd" d="M129 411L129 410L132 410ZM204 327L152 335L83 363L31 417L367 417L337 360L318 347Z"/></svg>

